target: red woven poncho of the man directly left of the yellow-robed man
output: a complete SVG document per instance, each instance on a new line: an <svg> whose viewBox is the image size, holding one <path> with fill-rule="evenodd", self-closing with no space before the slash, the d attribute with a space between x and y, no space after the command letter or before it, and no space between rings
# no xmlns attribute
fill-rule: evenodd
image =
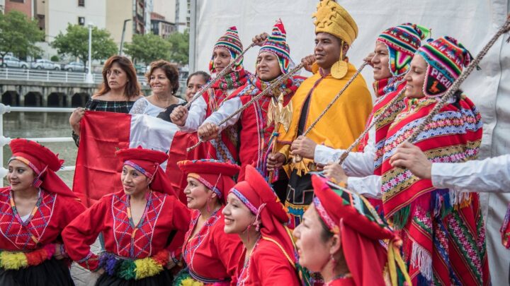
<svg viewBox="0 0 510 286"><path fill-rule="evenodd" d="M241 172L239 179L244 177L244 166L253 165L261 174L266 174L266 160L268 152L271 152L270 145L278 133L273 133L275 124L268 125L268 109L271 105L271 99L278 99L283 93L283 104L287 105L290 98L301 83L305 80L301 76L293 76L285 83L275 88L270 96L264 96L257 100L254 105L248 107L241 115L241 149L239 150L239 159L241 161ZM275 79L276 81L276 79ZM250 76L248 84L231 97L239 97L242 104L246 104L252 97L259 95L263 90L271 85L272 82L261 81L257 76Z"/></svg>

